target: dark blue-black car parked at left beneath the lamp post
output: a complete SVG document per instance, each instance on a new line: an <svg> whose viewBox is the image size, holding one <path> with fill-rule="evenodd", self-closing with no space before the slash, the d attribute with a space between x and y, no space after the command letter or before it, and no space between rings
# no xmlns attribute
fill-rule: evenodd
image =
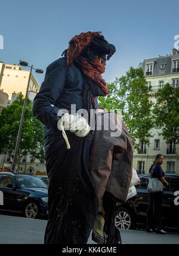
<svg viewBox="0 0 179 256"><path fill-rule="evenodd" d="M23 213L26 218L48 214L47 185L35 175L0 172L0 191L0 211Z"/></svg>

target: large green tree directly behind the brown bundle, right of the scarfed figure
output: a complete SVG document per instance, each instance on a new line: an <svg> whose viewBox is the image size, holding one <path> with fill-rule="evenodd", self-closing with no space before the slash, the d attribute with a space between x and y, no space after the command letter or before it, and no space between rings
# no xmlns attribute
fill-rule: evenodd
<svg viewBox="0 0 179 256"><path fill-rule="evenodd" d="M135 148L139 141L149 144L151 120L151 107L149 92L142 68L130 68L125 76L116 78L108 85L110 94L100 97L99 104L107 110L115 112L122 110L122 118L128 128Z"/></svg>

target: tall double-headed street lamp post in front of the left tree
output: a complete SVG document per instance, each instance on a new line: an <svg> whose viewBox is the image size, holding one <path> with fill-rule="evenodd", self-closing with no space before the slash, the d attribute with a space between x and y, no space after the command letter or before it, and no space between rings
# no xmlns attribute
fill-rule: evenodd
<svg viewBox="0 0 179 256"><path fill-rule="evenodd" d="M19 65L21 65L23 67L30 67L30 74L29 74L29 80L28 80L28 83L27 83L26 96L24 98L24 104L23 104L23 110L22 110L22 113L21 113L20 124L19 124L19 127L18 127L16 147L15 147L15 151L14 151L13 165L12 165L12 169L11 169L12 172L14 172L15 168L16 168L17 154L18 154L18 148L19 148L20 137L21 137L21 129L22 129L22 126L23 126L23 121L24 121L24 114L25 114L25 109L26 109L27 95L28 95L28 91L29 91L29 85L30 85L30 78L31 78L31 75L32 75L32 70L35 70L36 73L39 73L39 74L44 73L43 70L33 68L33 65L29 66L28 63L25 62L25 61L20 61Z"/></svg>

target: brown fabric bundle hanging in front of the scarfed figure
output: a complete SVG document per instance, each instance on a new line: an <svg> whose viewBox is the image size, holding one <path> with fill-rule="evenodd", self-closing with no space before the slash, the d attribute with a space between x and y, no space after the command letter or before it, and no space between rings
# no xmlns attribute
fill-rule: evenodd
<svg viewBox="0 0 179 256"><path fill-rule="evenodd" d="M107 192L113 200L125 202L132 177L133 149L131 136L124 121L118 125L117 115L97 114L101 118L101 130L96 130L91 152L90 171L98 194L99 208L103 211L103 195ZM115 115L115 120L113 116ZM109 119L107 119L109 116ZM105 130L110 120L113 127L121 129L121 135L111 137L111 130ZM114 122L116 124L114 124ZM121 127L119 127L121 126Z"/></svg>

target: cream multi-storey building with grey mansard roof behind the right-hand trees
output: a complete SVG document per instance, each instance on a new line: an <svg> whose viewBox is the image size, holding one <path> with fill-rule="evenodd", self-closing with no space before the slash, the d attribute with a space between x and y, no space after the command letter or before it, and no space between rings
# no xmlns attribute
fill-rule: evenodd
<svg viewBox="0 0 179 256"><path fill-rule="evenodd" d="M147 85L152 86L151 100L155 103L155 92L161 89L166 83L171 86L179 86L179 52L172 50L172 55L159 56L153 59L144 59L139 67L143 68L146 76ZM169 172L179 172L179 160L175 154L174 141L166 143L163 140L161 128L152 129L150 144L147 146L140 143L140 150L134 151L134 168L138 173L149 172L155 156L161 153L164 156L163 170ZM179 146L176 145L177 155L179 155Z"/></svg>

